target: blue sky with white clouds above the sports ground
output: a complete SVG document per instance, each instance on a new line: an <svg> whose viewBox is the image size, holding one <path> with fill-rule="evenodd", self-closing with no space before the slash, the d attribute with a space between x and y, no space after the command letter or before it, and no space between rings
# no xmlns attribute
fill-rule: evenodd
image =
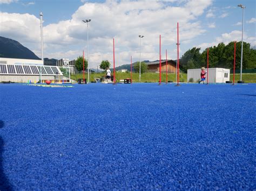
<svg viewBox="0 0 256 191"><path fill-rule="evenodd" d="M169 0L169 1L86 1L86 0L0 0L0 36L17 40L41 58L39 13L43 12L44 58L70 60L89 51L89 67L102 60L113 66L141 60L177 59L188 49L241 41L242 9L244 41L256 46L255 0ZM87 49L87 25L89 47ZM143 35L140 39L138 36ZM141 42L140 42L141 40ZM140 44L141 43L141 44ZM141 53L141 54L140 54Z"/></svg>

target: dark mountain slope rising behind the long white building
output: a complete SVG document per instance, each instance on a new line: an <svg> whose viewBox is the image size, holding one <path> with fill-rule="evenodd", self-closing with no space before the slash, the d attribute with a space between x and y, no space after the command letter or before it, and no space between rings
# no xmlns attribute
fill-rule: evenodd
<svg viewBox="0 0 256 191"><path fill-rule="evenodd" d="M18 41L0 36L0 57L40 60L30 49Z"/></svg>

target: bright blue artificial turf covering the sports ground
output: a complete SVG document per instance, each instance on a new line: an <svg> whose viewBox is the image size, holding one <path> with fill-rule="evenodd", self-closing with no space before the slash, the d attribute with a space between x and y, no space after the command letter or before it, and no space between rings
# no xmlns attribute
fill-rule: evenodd
<svg viewBox="0 0 256 191"><path fill-rule="evenodd" d="M0 84L0 189L250 189L256 84Z"/></svg>

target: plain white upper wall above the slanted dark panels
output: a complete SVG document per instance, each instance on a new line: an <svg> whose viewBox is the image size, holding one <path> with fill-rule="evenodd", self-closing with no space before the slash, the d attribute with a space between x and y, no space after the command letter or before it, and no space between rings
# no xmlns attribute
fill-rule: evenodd
<svg viewBox="0 0 256 191"><path fill-rule="evenodd" d="M30 60L30 59L0 58L0 64L43 65L43 61L42 60Z"/></svg>

